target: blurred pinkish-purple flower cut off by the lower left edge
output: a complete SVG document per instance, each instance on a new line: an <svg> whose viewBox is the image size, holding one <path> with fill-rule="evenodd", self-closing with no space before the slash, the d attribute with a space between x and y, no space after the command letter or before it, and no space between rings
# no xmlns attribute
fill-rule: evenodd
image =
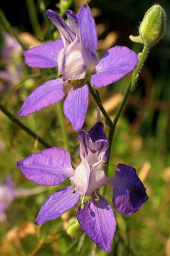
<svg viewBox="0 0 170 256"><path fill-rule="evenodd" d="M6 220L5 209L13 202L15 198L15 184L11 176L7 175L6 183L0 182L0 222Z"/></svg>

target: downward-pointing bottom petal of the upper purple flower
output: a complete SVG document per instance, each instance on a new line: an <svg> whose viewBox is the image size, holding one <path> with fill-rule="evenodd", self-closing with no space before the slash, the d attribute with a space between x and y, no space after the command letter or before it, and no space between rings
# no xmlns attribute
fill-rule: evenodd
<svg viewBox="0 0 170 256"><path fill-rule="evenodd" d="M65 116L78 131L82 128L87 111L88 86L73 87L63 104Z"/></svg>

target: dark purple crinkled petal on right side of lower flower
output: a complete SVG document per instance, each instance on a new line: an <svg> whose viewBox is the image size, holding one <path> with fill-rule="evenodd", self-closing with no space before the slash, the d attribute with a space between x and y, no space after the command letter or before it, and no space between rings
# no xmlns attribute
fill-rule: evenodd
<svg viewBox="0 0 170 256"><path fill-rule="evenodd" d="M108 184L114 188L114 207L124 215L132 215L139 211L142 204L148 200L146 188L131 166L119 163L116 173L108 177Z"/></svg>

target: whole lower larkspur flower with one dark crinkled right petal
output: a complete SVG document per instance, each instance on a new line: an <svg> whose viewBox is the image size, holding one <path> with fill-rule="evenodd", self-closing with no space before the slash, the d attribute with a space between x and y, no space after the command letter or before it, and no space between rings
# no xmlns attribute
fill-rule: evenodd
<svg viewBox="0 0 170 256"><path fill-rule="evenodd" d="M135 169L119 164L112 177L106 177L103 163L107 161L108 140L103 123L97 122L89 132L78 132L81 162L74 170L69 152L49 148L34 153L17 165L30 181L46 186L57 185L70 178L73 186L62 188L50 195L42 205L35 224L55 219L74 207L82 196L76 217L83 231L105 252L111 251L116 230L116 219L108 202L98 192L104 184L113 187L113 205L118 212L131 215L148 199ZM84 203L85 195L91 196Z"/></svg>

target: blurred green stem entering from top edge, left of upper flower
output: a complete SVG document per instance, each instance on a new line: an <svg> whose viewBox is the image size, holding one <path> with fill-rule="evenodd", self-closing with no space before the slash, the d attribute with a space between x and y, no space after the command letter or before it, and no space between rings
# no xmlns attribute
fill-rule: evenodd
<svg viewBox="0 0 170 256"><path fill-rule="evenodd" d="M27 3L29 19L31 20L33 32L40 40L43 40L39 20L37 18L35 3L33 0L26 0L26 3Z"/></svg>

